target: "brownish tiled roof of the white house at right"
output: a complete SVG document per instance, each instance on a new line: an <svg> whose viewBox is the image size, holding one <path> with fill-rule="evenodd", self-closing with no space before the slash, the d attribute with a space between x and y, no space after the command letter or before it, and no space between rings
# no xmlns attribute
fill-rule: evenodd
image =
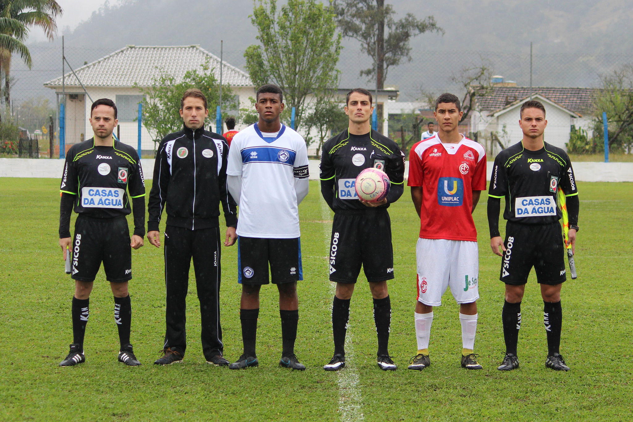
<svg viewBox="0 0 633 422"><path fill-rule="evenodd" d="M532 87L531 93L541 94L574 113L585 115L594 108L593 97L597 91L594 88ZM491 95L477 97L477 106L484 111L498 111L529 96L530 87L493 87Z"/></svg>

